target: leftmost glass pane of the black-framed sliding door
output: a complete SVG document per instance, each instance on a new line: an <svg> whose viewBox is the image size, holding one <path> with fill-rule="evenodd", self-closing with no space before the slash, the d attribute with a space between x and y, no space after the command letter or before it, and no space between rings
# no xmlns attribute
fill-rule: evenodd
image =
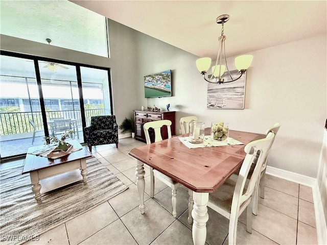
<svg viewBox="0 0 327 245"><path fill-rule="evenodd" d="M1 157L43 144L44 128L33 60L0 56Z"/></svg>

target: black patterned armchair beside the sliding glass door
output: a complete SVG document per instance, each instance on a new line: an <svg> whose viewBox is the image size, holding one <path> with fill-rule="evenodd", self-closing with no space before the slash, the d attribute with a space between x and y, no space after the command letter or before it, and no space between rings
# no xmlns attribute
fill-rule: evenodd
<svg viewBox="0 0 327 245"><path fill-rule="evenodd" d="M92 116L91 124L84 128L88 149L92 152L92 146L101 144L116 144L118 148L118 125L116 117Z"/></svg>

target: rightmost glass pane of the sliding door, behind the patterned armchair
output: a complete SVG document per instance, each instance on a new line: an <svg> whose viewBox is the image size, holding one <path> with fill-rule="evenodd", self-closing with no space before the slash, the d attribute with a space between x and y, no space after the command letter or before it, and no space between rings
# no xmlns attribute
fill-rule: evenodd
<svg viewBox="0 0 327 245"><path fill-rule="evenodd" d="M111 115L108 71L81 67L86 125L91 116Z"/></svg>

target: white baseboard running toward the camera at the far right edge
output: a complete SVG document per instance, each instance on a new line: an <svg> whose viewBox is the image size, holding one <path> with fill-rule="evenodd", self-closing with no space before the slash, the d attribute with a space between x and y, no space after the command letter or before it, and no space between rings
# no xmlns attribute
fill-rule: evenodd
<svg viewBox="0 0 327 245"><path fill-rule="evenodd" d="M321 195L318 186L318 180L315 181L312 187L313 203L315 206L316 227L318 244L326 244L327 241L327 224L323 215L323 206L321 202Z"/></svg>

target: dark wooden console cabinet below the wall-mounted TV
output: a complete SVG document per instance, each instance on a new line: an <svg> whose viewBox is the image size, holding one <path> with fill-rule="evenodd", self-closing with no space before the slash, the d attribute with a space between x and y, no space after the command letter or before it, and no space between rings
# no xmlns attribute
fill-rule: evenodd
<svg viewBox="0 0 327 245"><path fill-rule="evenodd" d="M134 110L135 121L135 139L146 142L143 125L148 121L171 120L172 135L175 135L175 111L138 111ZM162 127L162 139L168 138L167 127ZM154 141L154 135L150 133L151 142Z"/></svg>

